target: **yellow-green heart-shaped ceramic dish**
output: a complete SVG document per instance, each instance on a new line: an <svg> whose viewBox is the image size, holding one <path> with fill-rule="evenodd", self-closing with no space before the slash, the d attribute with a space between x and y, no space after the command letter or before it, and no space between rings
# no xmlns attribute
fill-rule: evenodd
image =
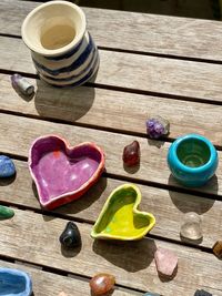
<svg viewBox="0 0 222 296"><path fill-rule="evenodd" d="M133 241L142 238L155 225L155 217L138 211L140 190L132 184L117 187L108 197L92 228L93 238Z"/></svg>

